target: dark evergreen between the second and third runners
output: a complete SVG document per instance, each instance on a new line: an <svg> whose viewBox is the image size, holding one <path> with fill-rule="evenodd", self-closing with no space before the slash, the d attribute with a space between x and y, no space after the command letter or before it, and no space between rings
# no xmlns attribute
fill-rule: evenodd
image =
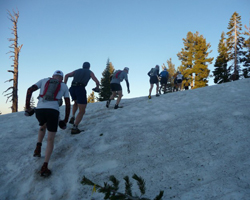
<svg viewBox="0 0 250 200"><path fill-rule="evenodd" d="M101 83L100 83L100 93L99 93L99 101L106 101L109 99L111 95L110 89L110 77L114 72L114 67L112 63L107 60L106 68L102 73Z"/></svg>

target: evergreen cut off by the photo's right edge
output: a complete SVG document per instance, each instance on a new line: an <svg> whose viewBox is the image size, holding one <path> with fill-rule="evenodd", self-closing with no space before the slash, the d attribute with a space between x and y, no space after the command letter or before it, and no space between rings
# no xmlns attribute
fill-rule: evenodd
<svg viewBox="0 0 250 200"><path fill-rule="evenodd" d="M244 35L246 35L248 38L245 40L245 44L244 47L246 48L246 52L245 52L245 57L243 60L243 76L245 78L249 78L250 77L250 22L249 22L249 27L247 27L245 25L245 28L247 29L244 32Z"/></svg>

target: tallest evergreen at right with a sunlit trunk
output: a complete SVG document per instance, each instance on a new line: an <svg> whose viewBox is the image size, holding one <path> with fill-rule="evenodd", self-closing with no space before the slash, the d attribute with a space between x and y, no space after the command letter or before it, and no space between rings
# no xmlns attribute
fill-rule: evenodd
<svg viewBox="0 0 250 200"><path fill-rule="evenodd" d="M229 48L229 61L231 65L229 70L232 71L231 80L238 80L240 77L240 64L242 63L242 56L244 56L243 44L244 38L241 36L242 24L241 16L234 12L228 23L227 29L227 45Z"/></svg>

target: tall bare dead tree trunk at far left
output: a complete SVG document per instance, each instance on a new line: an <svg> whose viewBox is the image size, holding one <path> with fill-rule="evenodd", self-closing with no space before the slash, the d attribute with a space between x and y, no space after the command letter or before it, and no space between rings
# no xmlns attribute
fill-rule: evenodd
<svg viewBox="0 0 250 200"><path fill-rule="evenodd" d="M17 21L19 18L19 11L15 12L13 10L14 15L11 14L10 11L8 11L9 19L13 22L13 28L12 34L14 35L14 38L8 38L10 42L13 42L9 48L12 50L8 53L12 53L10 58L13 59L14 65L11 65L13 67L13 70L8 70L8 72L13 74L13 78L9 79L5 82L11 82L13 81L13 86L9 87L7 90L4 91L4 93L8 92L9 90L12 90L10 93L5 94L4 96L7 96L7 101L10 99L10 102L12 102L12 112L18 112L18 58L19 58L19 52L23 45L18 46L18 35L17 35Z"/></svg>

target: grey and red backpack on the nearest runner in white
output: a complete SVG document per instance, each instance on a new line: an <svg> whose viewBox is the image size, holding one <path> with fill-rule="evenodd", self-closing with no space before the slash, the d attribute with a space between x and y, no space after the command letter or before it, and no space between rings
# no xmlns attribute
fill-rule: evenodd
<svg viewBox="0 0 250 200"><path fill-rule="evenodd" d="M61 88L61 81L50 78L44 86L43 94L39 95L39 97L42 97L43 100L46 101L58 101L56 96L60 91L60 88Z"/></svg>

